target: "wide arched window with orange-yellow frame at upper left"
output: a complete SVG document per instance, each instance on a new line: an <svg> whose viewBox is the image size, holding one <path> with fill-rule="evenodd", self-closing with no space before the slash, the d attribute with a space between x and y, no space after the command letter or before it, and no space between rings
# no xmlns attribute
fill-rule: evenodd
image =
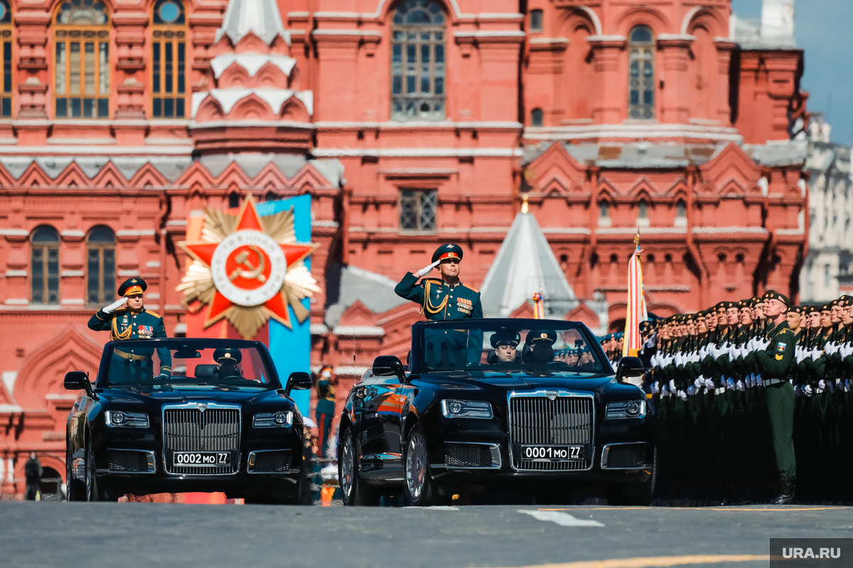
<svg viewBox="0 0 853 568"><path fill-rule="evenodd" d="M109 118L109 15L100 0L56 11L56 118Z"/></svg>

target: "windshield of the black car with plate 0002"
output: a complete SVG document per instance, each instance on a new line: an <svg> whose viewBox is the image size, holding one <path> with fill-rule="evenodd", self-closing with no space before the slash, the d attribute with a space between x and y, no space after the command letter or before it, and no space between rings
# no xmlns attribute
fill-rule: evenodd
<svg viewBox="0 0 853 568"><path fill-rule="evenodd" d="M268 354L254 341L113 341L104 349L98 386L278 386Z"/></svg>

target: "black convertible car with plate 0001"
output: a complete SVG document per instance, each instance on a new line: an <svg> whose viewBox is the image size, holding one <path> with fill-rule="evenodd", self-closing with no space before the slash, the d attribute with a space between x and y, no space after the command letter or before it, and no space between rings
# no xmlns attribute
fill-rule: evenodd
<svg viewBox="0 0 853 568"><path fill-rule="evenodd" d="M513 489L560 502L595 486L612 503L647 503L655 451L646 395L614 374L589 329L545 319L412 326L409 365L374 361L340 417L346 505L399 491L413 505L461 491Z"/></svg>

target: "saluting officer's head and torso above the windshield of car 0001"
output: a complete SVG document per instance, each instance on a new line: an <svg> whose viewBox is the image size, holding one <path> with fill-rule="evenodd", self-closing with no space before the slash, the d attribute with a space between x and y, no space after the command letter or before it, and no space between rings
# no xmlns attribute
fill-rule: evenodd
<svg viewBox="0 0 853 568"><path fill-rule="evenodd" d="M442 244L432 253L432 264L415 273L406 273L394 291L401 298L421 304L430 320L482 318L479 290L459 281L462 249L458 244ZM424 277L438 267L441 278Z"/></svg>

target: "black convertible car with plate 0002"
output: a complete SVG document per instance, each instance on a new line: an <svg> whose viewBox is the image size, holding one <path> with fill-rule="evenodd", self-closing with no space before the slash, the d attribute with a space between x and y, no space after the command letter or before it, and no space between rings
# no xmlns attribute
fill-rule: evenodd
<svg viewBox="0 0 853 568"><path fill-rule="evenodd" d="M110 341L94 386L82 371L67 423L67 496L224 491L247 502L305 502L310 440L258 341ZM308 446L306 448L306 445ZM306 457L304 457L306 456Z"/></svg>

